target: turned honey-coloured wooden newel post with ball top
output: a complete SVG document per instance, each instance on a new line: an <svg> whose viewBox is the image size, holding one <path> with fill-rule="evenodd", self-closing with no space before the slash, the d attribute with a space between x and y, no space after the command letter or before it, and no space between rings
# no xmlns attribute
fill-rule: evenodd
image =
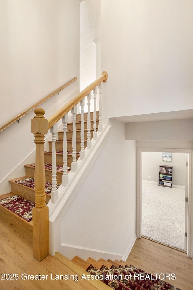
<svg viewBox="0 0 193 290"><path fill-rule="evenodd" d="M35 135L36 166L35 166L35 207L33 215L33 256L38 261L49 255L49 213L45 194L44 143L48 132L48 120L43 116L41 108L34 110L36 116L32 119L32 133Z"/></svg>

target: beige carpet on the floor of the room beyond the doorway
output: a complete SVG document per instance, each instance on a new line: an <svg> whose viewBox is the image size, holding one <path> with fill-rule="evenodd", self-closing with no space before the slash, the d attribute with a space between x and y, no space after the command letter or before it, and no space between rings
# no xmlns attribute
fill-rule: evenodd
<svg viewBox="0 0 193 290"><path fill-rule="evenodd" d="M142 182L142 235L184 250L185 187Z"/></svg>

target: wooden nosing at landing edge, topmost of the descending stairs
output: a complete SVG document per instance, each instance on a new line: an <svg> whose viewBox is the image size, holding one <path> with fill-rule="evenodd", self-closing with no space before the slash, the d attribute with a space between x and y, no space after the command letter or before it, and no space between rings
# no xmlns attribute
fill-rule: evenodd
<svg viewBox="0 0 193 290"><path fill-rule="evenodd" d="M68 267L69 269L76 272L76 274L78 274L80 278L82 277L83 274L85 274L85 276L89 275L88 272L86 272L86 269L90 266L90 264L86 267L86 269L84 269L79 264L74 262L73 259L70 261L69 259L67 259L66 257L64 257L62 254L60 254L58 252L55 253L54 257L55 257L55 259L59 260L62 264L64 264L66 267ZM78 256L76 256L74 258L76 261L78 261L78 259L80 259ZM80 259L80 260L82 260L82 259ZM101 281L98 281L98 280L87 280L87 282L99 290L100 289L101 290L108 290L109 289L109 287L107 285L105 285L104 283L102 283Z"/></svg>

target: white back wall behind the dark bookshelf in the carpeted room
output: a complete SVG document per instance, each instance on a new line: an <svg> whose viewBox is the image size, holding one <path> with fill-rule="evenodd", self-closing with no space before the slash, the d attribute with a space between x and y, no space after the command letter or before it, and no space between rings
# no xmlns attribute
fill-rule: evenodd
<svg viewBox="0 0 193 290"><path fill-rule="evenodd" d="M185 153L172 153L172 162L161 161L161 152L142 152L142 179L158 183L159 165L173 166L173 185L186 185ZM150 178L149 178L150 176Z"/></svg>

